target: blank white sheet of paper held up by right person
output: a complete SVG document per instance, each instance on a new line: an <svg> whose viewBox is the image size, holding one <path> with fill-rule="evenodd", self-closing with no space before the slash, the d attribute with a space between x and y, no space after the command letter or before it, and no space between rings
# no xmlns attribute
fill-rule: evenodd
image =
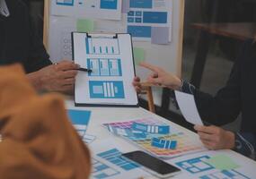
<svg viewBox="0 0 256 179"><path fill-rule="evenodd" d="M185 119L190 124L203 125L194 96L177 90L175 90L175 96Z"/></svg>

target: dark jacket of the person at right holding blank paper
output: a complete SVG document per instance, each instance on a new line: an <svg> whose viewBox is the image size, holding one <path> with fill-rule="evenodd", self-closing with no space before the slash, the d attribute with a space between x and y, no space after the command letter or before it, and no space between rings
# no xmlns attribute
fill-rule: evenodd
<svg viewBox="0 0 256 179"><path fill-rule="evenodd" d="M215 97L195 91L202 119L210 124L233 122L242 113L241 132L256 132L256 43L248 40L225 87Z"/></svg>

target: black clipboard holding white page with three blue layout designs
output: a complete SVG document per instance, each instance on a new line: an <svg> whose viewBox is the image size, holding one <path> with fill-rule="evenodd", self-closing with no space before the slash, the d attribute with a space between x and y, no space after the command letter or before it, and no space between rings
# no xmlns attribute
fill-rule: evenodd
<svg viewBox="0 0 256 179"><path fill-rule="evenodd" d="M75 107L138 107L131 35L72 32Z"/></svg>

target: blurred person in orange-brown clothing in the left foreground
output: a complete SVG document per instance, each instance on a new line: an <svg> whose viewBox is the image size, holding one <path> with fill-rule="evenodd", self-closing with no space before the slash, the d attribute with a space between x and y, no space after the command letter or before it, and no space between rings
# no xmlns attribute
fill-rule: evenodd
<svg viewBox="0 0 256 179"><path fill-rule="evenodd" d="M38 96L21 65L0 67L0 108L0 178L89 178L90 153L63 99Z"/></svg>

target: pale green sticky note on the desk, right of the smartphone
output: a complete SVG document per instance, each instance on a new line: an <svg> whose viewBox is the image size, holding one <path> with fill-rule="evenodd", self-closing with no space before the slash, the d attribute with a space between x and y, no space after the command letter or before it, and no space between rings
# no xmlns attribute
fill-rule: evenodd
<svg viewBox="0 0 256 179"><path fill-rule="evenodd" d="M205 162L219 170L231 170L239 167L239 165L237 165L232 158L225 155L214 156L205 160Z"/></svg>

